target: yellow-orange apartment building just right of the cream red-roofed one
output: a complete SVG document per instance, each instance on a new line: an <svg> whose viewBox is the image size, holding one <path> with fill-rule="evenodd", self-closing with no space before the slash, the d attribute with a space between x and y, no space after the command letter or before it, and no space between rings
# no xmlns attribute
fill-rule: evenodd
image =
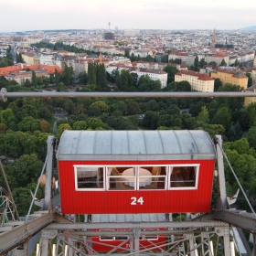
<svg viewBox="0 0 256 256"><path fill-rule="evenodd" d="M244 89L247 89L248 77L240 71L240 69L233 67L219 68L210 73L213 79L219 79L222 85L226 83L236 84Z"/></svg>

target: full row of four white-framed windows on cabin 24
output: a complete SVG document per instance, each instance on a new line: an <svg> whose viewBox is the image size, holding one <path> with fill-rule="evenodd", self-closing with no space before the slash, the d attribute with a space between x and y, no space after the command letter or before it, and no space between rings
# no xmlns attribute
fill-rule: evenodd
<svg viewBox="0 0 256 256"><path fill-rule="evenodd" d="M76 190L196 189L199 165L74 165Z"/></svg>

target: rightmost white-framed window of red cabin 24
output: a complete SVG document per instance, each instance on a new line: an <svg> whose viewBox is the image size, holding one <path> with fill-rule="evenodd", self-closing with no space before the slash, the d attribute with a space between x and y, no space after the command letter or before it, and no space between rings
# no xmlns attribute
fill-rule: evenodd
<svg viewBox="0 0 256 256"><path fill-rule="evenodd" d="M170 188L197 188L198 165L171 166Z"/></svg>

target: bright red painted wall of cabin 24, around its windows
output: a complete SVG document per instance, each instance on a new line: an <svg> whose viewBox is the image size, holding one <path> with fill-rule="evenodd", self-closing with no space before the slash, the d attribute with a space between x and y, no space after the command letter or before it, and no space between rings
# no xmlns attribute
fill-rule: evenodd
<svg viewBox="0 0 256 256"><path fill-rule="evenodd" d="M73 165L174 165L199 164L197 189L147 191L75 191ZM59 187L63 214L208 212L214 160L172 161L59 161ZM131 205L131 197L144 204Z"/></svg>

